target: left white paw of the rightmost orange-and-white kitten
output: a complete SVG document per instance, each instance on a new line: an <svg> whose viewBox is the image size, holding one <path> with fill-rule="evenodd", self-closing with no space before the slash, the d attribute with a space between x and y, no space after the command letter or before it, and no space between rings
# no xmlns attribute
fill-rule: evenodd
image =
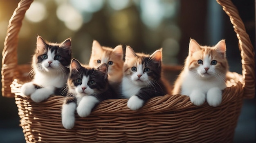
<svg viewBox="0 0 256 143"><path fill-rule="evenodd" d="M200 106L205 102L205 94L198 90L192 91L192 93L189 95L189 98L190 101L196 106Z"/></svg>

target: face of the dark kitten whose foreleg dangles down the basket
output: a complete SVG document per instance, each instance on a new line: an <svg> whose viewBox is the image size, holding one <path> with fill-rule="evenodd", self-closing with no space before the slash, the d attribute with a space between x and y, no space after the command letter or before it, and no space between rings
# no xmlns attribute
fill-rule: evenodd
<svg viewBox="0 0 256 143"><path fill-rule="evenodd" d="M103 93L108 87L108 66L102 64L94 69L72 59L67 85L69 92L79 97Z"/></svg>

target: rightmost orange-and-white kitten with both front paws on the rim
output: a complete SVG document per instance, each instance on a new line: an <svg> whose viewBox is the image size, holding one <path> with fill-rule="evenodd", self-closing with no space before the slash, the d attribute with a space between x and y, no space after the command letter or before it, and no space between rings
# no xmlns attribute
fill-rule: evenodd
<svg viewBox="0 0 256 143"><path fill-rule="evenodd" d="M222 90L226 88L225 40L215 46L201 46L191 39L189 55L184 69L175 81L173 94L188 95L193 104L200 106L207 100L210 106L218 106L222 101Z"/></svg>

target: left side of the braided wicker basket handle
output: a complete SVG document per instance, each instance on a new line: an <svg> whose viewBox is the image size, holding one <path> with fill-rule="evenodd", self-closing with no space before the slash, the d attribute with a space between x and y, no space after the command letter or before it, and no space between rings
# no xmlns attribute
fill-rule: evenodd
<svg viewBox="0 0 256 143"><path fill-rule="evenodd" d="M22 25L22 20L25 16L27 9L33 0L20 0L17 8L13 12L9 25L7 27L7 36L4 41L4 49L2 52L2 96L14 97L11 94L11 82L15 78L18 59L17 59L17 47L18 47L18 33Z"/></svg>

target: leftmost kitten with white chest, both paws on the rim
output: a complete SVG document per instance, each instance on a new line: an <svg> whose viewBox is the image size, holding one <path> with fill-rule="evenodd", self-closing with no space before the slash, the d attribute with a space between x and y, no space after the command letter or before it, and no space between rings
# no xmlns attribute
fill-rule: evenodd
<svg viewBox="0 0 256 143"><path fill-rule="evenodd" d="M32 59L34 79L21 87L22 96L41 102L58 94L66 86L71 61L71 39L62 43L49 43L38 36Z"/></svg>

